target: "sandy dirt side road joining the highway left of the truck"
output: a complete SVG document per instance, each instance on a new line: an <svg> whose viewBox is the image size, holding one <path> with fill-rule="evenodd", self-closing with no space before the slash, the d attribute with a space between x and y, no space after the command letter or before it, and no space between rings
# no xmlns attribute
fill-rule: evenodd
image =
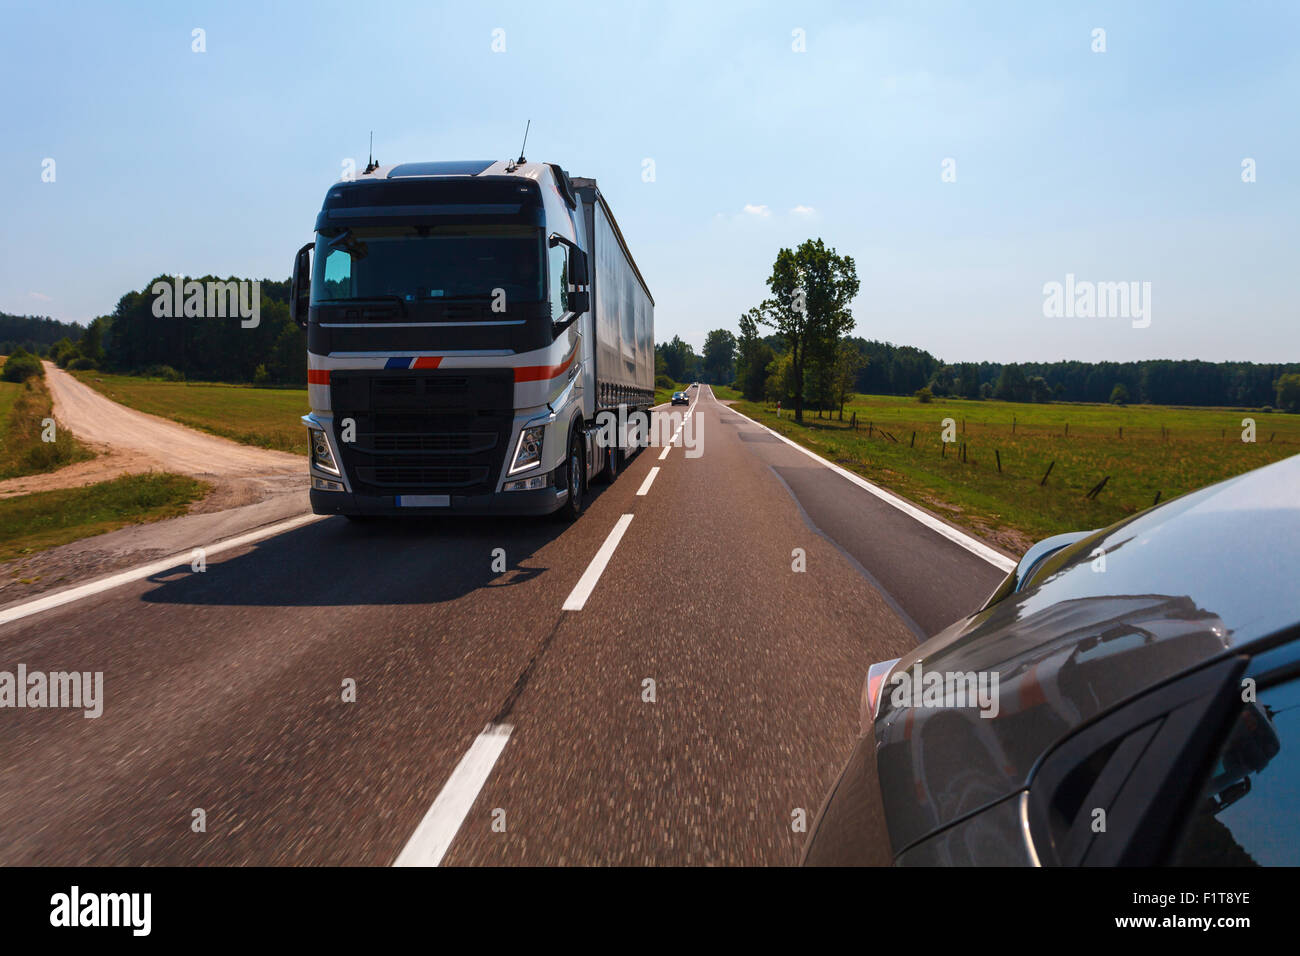
<svg viewBox="0 0 1300 956"><path fill-rule="evenodd" d="M240 445L229 438L127 408L51 363L46 382L55 399L55 419L96 453L47 475L0 481L0 498L78 488L142 471L169 471L203 479L214 492L195 511L224 511L306 486L307 464L300 455Z"/></svg>

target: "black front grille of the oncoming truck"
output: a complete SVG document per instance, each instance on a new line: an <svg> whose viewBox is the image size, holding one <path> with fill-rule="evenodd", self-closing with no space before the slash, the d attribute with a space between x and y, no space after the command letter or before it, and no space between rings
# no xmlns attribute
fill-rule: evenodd
<svg viewBox="0 0 1300 956"><path fill-rule="evenodd" d="M514 424L511 369L330 373L342 466L360 494L495 489ZM342 441L343 421L356 423Z"/></svg>

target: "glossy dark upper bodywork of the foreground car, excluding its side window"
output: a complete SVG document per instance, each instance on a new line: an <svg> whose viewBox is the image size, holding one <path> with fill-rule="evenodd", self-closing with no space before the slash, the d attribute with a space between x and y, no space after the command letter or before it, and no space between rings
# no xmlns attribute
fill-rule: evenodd
<svg viewBox="0 0 1300 956"><path fill-rule="evenodd" d="M894 852L1023 790L1039 757L1082 723L1300 623L1297 583L1300 455L1049 558L1030 589L957 622L892 671L997 680L993 717L896 704L885 685L876 761Z"/></svg>

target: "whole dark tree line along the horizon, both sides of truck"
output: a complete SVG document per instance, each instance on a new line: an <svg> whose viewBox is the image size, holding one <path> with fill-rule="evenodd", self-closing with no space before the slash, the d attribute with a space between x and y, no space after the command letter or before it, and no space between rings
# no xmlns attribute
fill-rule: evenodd
<svg viewBox="0 0 1300 956"><path fill-rule="evenodd" d="M289 319L289 280L261 280L260 320L159 317L159 276L122 295L87 326L0 313L0 351L22 349L65 368L126 375L302 386L306 334ZM200 282L238 282L205 276ZM703 354L680 337L655 347L659 384L734 385L750 401L783 402L802 416L842 408L849 395L993 398L1015 402L1145 402L1300 411L1300 363L1144 362L946 363L923 349L849 334L858 291L850 256L822 239L783 248L771 295L740 316L738 332L714 329ZM927 392L928 390L928 392Z"/></svg>

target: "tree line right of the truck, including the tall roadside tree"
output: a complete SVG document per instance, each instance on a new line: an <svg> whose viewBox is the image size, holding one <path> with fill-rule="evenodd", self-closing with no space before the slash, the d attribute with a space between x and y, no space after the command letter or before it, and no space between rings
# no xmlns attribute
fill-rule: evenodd
<svg viewBox="0 0 1300 956"><path fill-rule="evenodd" d="M1300 411L1300 363L961 362L923 349L850 336L858 293L852 256L822 239L777 252L771 297L740 316L738 334L708 333L705 355L673 337L656 346L656 371L673 381L734 385L750 401L840 411L854 393L1010 402L1141 402L1278 407Z"/></svg>

